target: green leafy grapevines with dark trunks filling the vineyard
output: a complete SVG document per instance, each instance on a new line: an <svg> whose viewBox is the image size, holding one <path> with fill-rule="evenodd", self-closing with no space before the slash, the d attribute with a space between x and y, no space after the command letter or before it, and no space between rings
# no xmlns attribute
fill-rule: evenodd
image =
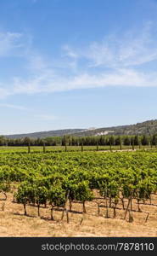
<svg viewBox="0 0 157 256"><path fill-rule="evenodd" d="M116 217L117 206L121 204L124 219L132 217L132 201L137 202L137 212L142 212L141 203L152 204L152 195L157 192L157 153L115 152L115 153L60 153L60 154L1 154L0 192L7 200L8 192L13 192L14 202L37 208L50 207L50 218L54 220L54 208L62 210L67 222L68 212L73 204L82 204L86 213L87 201L94 201L105 208L105 218L109 218L109 208ZM97 193L96 193L97 192ZM89 214L91 212L88 212ZM149 218L149 212L146 220Z"/></svg>

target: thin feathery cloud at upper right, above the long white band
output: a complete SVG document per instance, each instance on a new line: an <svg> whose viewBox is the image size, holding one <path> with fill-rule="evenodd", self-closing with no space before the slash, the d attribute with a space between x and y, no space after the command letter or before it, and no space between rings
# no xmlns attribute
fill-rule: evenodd
<svg viewBox="0 0 157 256"><path fill-rule="evenodd" d="M141 31L110 35L84 49L66 46L67 55L86 59L89 67L134 67L157 60L155 26L148 22Z"/></svg>

